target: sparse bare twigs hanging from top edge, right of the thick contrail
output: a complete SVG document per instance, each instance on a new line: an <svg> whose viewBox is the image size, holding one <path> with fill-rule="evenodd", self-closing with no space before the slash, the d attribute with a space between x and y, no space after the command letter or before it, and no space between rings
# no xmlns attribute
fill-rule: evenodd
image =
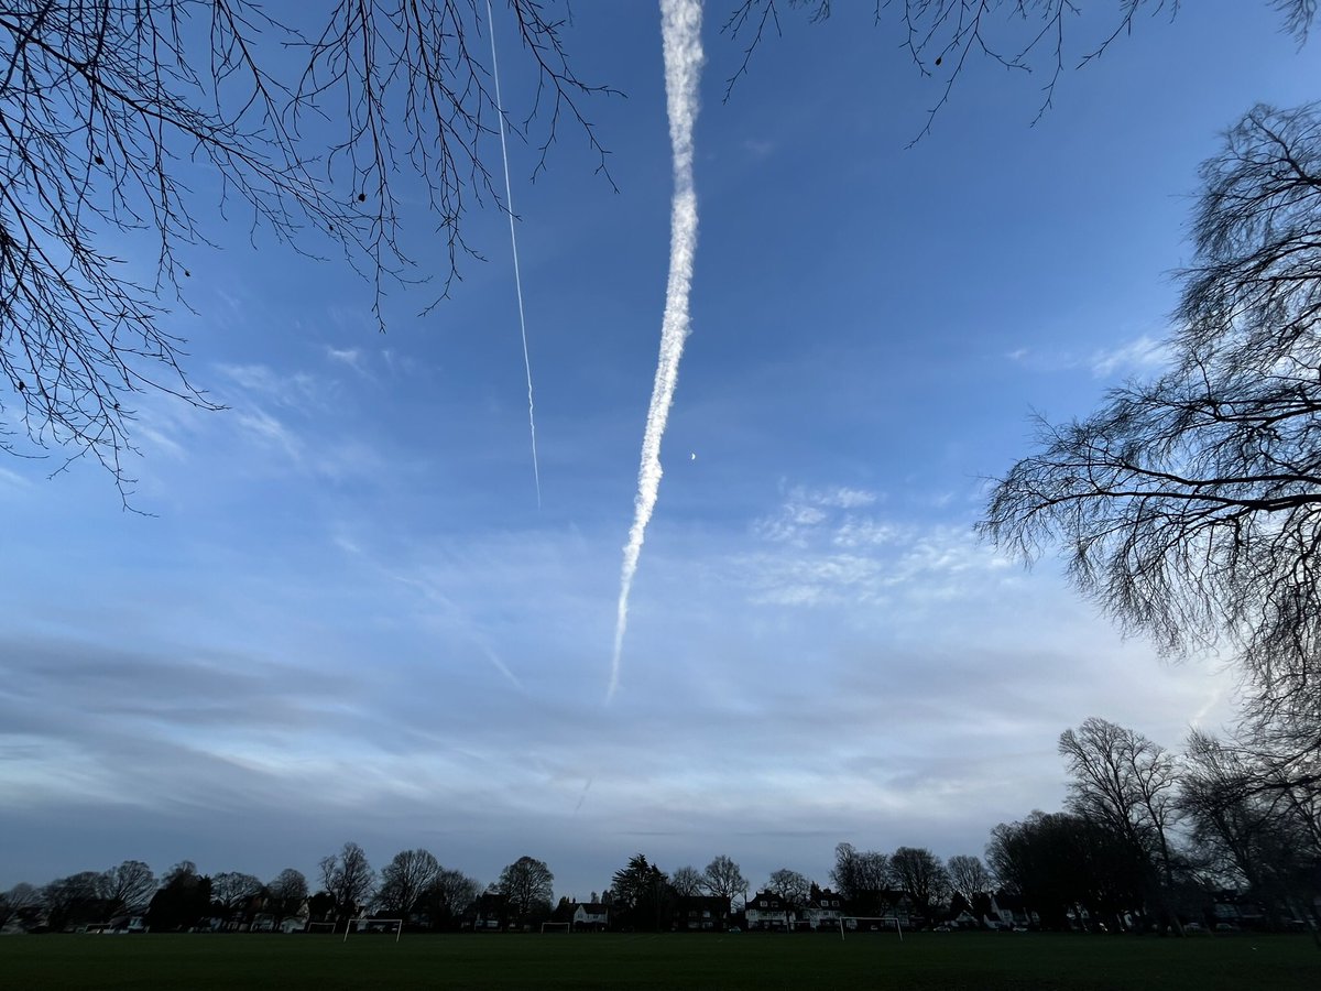
<svg viewBox="0 0 1321 991"><path fill-rule="evenodd" d="M769 33L779 33L779 7L806 11L814 22L827 20L832 0L738 0L723 30L744 38L742 61L725 87L729 99L734 85L748 73L753 53ZM1092 20L1090 33L1074 15L1100 4L1082 0L875 0L872 20L890 26L917 71L941 81L939 98L927 111L922 135L941 108L950 102L954 86L970 61L988 59L1016 73L1041 73L1042 102L1038 119L1050 106L1055 85L1070 65L1099 58L1112 42L1128 34L1140 15L1173 17L1178 0L1116 0L1114 12ZM1316 17L1317 0L1271 0L1284 18L1284 28L1299 42L1306 40ZM1077 37L1082 34L1082 37Z"/></svg>

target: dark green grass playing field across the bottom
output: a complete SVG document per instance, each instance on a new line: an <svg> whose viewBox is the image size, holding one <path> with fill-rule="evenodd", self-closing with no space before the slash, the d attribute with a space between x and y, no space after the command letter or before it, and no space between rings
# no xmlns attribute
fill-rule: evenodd
<svg viewBox="0 0 1321 991"><path fill-rule="evenodd" d="M1132 988L1318 991L1308 937L36 936L5 988Z"/></svg>

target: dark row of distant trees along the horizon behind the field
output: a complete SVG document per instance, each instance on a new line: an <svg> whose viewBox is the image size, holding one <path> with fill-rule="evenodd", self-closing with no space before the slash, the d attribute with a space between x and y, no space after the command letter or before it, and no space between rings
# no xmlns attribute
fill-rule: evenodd
<svg viewBox="0 0 1321 991"><path fill-rule="evenodd" d="M1276 930L1321 922L1321 789L1281 781L1269 762L1201 732L1182 753L1104 719L1087 719L1059 736L1069 773L1065 807L1034 810L991 830L984 858L942 860L926 847L893 852L835 848L822 887L781 868L758 891L786 913L826 892L847 914L882 916L902 895L927 924L989 914L992 896L1012 897L1033 925L1048 930L1182 933L1215 920L1215 900L1232 892L1255 906L1255 924ZM285 920L342 926L373 913L416 929L456 930L481 910L498 928L532 926L556 916L555 875L532 856L505 867L483 887L441 865L427 850L404 850L379 871L357 843L317 865L318 885L295 868L268 881L222 871L202 875L192 862L157 879L143 862L83 871L44 887L16 884L0 895L0 929L127 925L140 917L156 932L279 929ZM686 899L717 899L737 910L752 885L728 855L705 868L670 872L637 854L589 904L612 928L662 930ZM563 896L559 906L577 899ZM565 920L567 921L567 920Z"/></svg>

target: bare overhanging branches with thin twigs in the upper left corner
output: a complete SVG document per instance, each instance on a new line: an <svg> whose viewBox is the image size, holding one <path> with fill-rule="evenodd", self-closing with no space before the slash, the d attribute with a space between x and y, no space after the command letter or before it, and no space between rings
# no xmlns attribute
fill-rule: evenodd
<svg viewBox="0 0 1321 991"><path fill-rule="evenodd" d="M577 104L602 87L569 66L564 21L542 0L506 7L536 74L527 114L511 122L535 128L536 169L572 120L604 170ZM444 296L469 251L465 213L499 202L485 164L498 114L485 13L476 0L330 0L287 7L285 22L255 0L5 4L0 379L16 400L11 422L38 447L90 453L124 492L141 394L214 408L186 378L165 312L205 264L211 213L190 188L203 170L219 181L222 211L254 235L308 252L320 250L308 234L329 240L374 287L378 318L391 280L431 275L399 240L396 184L413 173L448 244Z"/></svg>

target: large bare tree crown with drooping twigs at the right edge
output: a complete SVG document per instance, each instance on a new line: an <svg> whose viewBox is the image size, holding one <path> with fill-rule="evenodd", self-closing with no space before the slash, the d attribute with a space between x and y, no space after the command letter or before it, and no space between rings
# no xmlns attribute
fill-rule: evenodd
<svg viewBox="0 0 1321 991"><path fill-rule="evenodd" d="M980 529L1165 651L1227 642L1269 721L1321 678L1321 111L1255 107L1202 180L1170 370L1042 422Z"/></svg>

